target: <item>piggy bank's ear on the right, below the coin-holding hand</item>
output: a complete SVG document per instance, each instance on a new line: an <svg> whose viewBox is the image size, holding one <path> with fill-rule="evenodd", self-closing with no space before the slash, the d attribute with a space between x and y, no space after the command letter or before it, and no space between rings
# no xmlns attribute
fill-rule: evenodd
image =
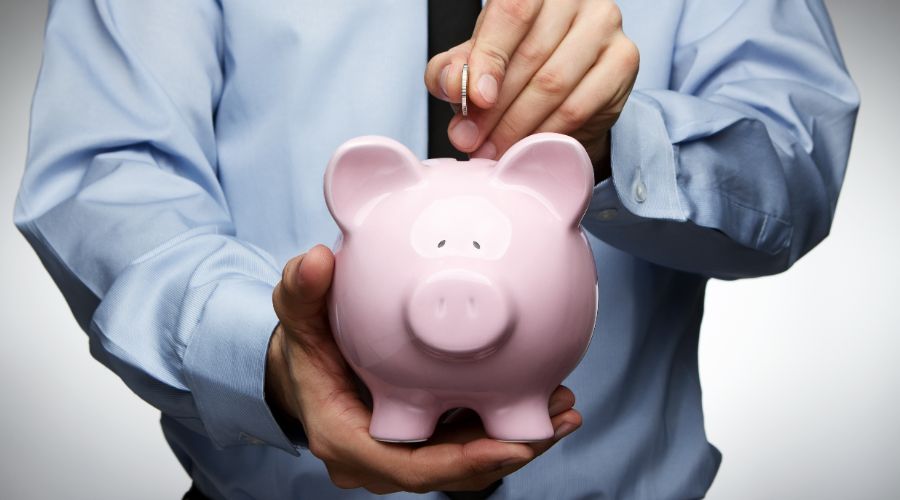
<svg viewBox="0 0 900 500"><path fill-rule="evenodd" d="M562 134L540 133L514 144L497 162L495 178L532 191L560 219L578 224L594 188L584 146Z"/></svg>

